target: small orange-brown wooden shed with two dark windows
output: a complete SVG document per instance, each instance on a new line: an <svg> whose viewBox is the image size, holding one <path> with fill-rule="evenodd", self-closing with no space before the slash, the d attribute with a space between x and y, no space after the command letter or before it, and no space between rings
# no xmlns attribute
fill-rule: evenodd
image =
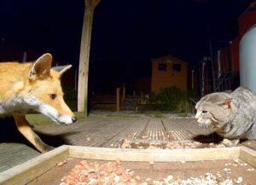
<svg viewBox="0 0 256 185"><path fill-rule="evenodd" d="M188 63L172 55L156 58L152 61L151 91L176 86L188 90Z"/></svg>

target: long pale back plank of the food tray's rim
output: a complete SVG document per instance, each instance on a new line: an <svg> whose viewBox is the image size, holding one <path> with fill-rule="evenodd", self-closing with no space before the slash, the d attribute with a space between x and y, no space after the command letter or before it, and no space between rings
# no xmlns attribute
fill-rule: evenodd
<svg viewBox="0 0 256 185"><path fill-rule="evenodd" d="M122 161L200 161L217 159L238 159L240 147L200 148L200 149L119 149L107 147L69 146L69 156L81 159L102 159Z"/></svg>

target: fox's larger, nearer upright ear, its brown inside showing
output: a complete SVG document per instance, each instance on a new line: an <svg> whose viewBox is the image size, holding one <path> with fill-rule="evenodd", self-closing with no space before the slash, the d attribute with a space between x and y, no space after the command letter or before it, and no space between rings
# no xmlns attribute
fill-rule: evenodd
<svg viewBox="0 0 256 185"><path fill-rule="evenodd" d="M29 71L28 77L32 78L37 75L39 78L49 76L49 71L52 63L52 55L44 54L33 63L31 70Z"/></svg>

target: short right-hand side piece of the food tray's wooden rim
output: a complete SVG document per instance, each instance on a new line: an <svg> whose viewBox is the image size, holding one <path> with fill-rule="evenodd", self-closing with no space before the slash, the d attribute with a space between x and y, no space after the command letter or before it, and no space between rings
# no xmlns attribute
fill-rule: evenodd
<svg viewBox="0 0 256 185"><path fill-rule="evenodd" d="M249 147L241 147L240 159L256 168L256 151Z"/></svg>

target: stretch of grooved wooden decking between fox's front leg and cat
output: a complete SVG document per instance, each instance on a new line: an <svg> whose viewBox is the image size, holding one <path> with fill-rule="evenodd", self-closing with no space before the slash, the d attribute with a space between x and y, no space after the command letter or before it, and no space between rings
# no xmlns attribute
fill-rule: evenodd
<svg viewBox="0 0 256 185"><path fill-rule="evenodd" d="M190 140L210 133L199 127L195 119L173 118L89 118L70 125L38 126L35 130L56 137L58 143L47 142L53 145L63 141L68 145L88 147L117 147L116 144L128 136L133 140L147 137L148 141L172 141Z"/></svg>

